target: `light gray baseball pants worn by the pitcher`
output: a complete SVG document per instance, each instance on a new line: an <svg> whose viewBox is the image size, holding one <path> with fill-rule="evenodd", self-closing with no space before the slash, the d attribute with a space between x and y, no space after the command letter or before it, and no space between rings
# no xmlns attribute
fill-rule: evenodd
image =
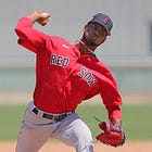
<svg viewBox="0 0 152 152"><path fill-rule="evenodd" d="M38 152L50 138L75 147L76 152L93 152L90 129L77 113L71 113L61 122L54 122L42 118L41 114L36 115L34 107L34 102L30 102L26 109L15 152Z"/></svg>

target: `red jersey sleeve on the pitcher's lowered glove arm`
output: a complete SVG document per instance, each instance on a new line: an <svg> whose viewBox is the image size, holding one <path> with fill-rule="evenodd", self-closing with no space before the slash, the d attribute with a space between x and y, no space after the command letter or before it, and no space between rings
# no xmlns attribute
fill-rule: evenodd
<svg viewBox="0 0 152 152"><path fill-rule="evenodd" d="M107 110L109 119L122 121L121 105L123 101L117 88L116 80L106 67L104 67L104 75L101 75L100 77L100 96Z"/></svg>

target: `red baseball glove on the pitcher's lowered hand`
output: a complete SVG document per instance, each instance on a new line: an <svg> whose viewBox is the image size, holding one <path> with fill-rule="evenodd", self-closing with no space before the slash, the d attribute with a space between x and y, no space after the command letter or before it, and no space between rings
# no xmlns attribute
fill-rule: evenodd
<svg viewBox="0 0 152 152"><path fill-rule="evenodd" d="M118 125L113 125L109 122L101 122L99 127L103 130L96 138L104 144L112 147L119 147L125 143L125 132Z"/></svg>

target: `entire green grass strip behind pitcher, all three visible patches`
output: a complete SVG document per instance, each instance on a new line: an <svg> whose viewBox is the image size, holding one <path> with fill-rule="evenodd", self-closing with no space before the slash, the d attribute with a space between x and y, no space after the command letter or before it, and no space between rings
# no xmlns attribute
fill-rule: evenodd
<svg viewBox="0 0 152 152"><path fill-rule="evenodd" d="M16 140L25 105L0 105L0 140ZM152 140L152 105L123 106L123 128L127 140ZM106 112L100 105L80 105L77 112L92 131L93 138L100 134L97 116L107 121Z"/></svg>

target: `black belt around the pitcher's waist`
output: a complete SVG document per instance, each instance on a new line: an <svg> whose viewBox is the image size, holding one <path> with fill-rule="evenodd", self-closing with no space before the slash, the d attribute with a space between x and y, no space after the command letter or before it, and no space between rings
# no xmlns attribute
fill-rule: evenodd
<svg viewBox="0 0 152 152"><path fill-rule="evenodd" d="M33 112L37 115L39 113L39 110L34 107ZM65 118L68 114L69 113L65 113L65 114L61 114L61 115L51 115L51 114L43 113L42 117L43 118L49 118L49 119L52 119L52 121L55 121L55 122L60 122L63 118Z"/></svg>

